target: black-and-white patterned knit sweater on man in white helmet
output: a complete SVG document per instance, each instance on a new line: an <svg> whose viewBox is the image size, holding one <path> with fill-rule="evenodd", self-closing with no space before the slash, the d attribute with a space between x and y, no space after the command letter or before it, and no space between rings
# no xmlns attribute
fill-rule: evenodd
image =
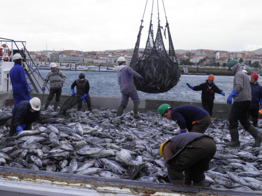
<svg viewBox="0 0 262 196"><path fill-rule="evenodd" d="M54 73L52 71L49 71L45 77L43 87L46 86L48 80L50 80L50 88L58 89L62 88L62 83L65 82L65 74L63 74L62 71L57 71L57 73Z"/></svg>

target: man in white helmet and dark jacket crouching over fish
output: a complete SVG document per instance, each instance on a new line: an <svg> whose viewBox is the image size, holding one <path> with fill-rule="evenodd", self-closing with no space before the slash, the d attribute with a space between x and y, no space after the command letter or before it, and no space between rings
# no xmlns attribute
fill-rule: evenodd
<svg viewBox="0 0 262 196"><path fill-rule="evenodd" d="M19 134L24 130L31 130L32 123L41 114L40 107L41 101L37 97L18 103L12 110L9 136L13 136L16 132Z"/></svg>

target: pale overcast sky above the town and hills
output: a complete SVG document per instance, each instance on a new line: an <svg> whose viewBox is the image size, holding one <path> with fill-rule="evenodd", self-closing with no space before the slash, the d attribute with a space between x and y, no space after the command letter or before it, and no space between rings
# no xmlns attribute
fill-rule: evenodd
<svg viewBox="0 0 262 196"><path fill-rule="evenodd" d="M29 51L134 48L146 5L146 0L11 2L12 6L2 8L0 37L26 41ZM162 0L158 5L160 25L165 26ZM262 48L261 0L164 0L164 6L175 49ZM152 0L148 0L140 48L146 45L151 9ZM154 0L153 28L156 33L157 0Z"/></svg>

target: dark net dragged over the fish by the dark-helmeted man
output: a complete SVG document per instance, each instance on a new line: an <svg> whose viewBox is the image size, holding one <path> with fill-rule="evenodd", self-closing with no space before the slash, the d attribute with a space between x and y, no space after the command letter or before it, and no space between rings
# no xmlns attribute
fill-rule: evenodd
<svg viewBox="0 0 262 196"><path fill-rule="evenodd" d="M75 104L77 104L77 102L79 101L81 97L78 96L77 94L75 94L75 96L70 96L68 97L63 105L60 107L57 116L62 116L65 119L69 119L71 118L71 115L67 112L68 109L70 109L71 107L73 107Z"/></svg>

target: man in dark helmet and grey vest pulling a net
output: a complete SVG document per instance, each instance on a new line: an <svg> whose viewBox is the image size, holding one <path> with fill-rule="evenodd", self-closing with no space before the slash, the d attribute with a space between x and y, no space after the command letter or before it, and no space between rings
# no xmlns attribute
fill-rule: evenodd
<svg viewBox="0 0 262 196"><path fill-rule="evenodd" d="M78 79L75 80L71 85L72 96L75 95L75 90L74 90L75 86L77 86L77 95L81 97L80 100L78 101L77 111L81 111L83 100L85 100L87 104L87 109L91 112L92 104L91 104L91 98L88 94L90 87L89 87L89 82L85 78L84 73L80 73Z"/></svg>

